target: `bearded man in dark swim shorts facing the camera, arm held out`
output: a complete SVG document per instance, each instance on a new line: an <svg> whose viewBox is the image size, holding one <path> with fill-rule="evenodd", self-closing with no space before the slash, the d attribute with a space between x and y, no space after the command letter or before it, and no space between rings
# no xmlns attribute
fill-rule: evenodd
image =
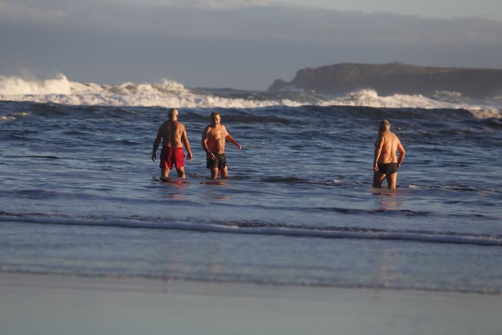
<svg viewBox="0 0 502 335"><path fill-rule="evenodd" d="M202 133L202 148L206 152L206 168L211 171L211 179L218 178L218 172L221 178L228 176L226 157L225 157L225 141L233 143L239 150L240 144L228 134L225 126L221 123L219 113L211 113L211 124L204 129Z"/></svg>

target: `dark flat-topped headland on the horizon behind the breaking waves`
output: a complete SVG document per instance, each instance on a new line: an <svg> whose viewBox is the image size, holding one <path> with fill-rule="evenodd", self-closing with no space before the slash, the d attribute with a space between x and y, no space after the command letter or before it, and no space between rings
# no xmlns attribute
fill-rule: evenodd
<svg viewBox="0 0 502 335"><path fill-rule="evenodd" d="M495 96L502 94L502 69L340 63L301 69L290 82L276 79L268 91L339 94L366 88L379 95L450 91L471 97Z"/></svg>

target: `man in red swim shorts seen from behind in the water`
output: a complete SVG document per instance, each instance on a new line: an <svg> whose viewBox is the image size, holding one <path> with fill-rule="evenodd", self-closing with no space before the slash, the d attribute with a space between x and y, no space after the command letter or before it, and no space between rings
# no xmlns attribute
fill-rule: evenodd
<svg viewBox="0 0 502 335"><path fill-rule="evenodd" d="M152 160L155 162L157 158L157 148L159 148L161 140L164 139L162 152L160 154L161 176L167 177L169 175L169 170L172 169L173 166L176 166L178 177L185 178L185 164L183 162L185 153L183 152L183 144L187 149L187 160L189 162L192 160L192 150L188 142L187 131L185 126L181 122L178 122L179 114L176 108L171 108L169 110L168 117L169 120L164 122L157 132L157 138L154 141L152 150Z"/></svg>

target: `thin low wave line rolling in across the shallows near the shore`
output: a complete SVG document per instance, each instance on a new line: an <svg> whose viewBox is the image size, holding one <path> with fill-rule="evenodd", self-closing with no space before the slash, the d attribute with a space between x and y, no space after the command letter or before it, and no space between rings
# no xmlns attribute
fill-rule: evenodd
<svg viewBox="0 0 502 335"><path fill-rule="evenodd" d="M269 222L195 223L173 221L143 221L130 218L77 218L63 216L36 216L2 212L0 221L29 222L34 224L107 226L122 228L202 231L213 233L282 235L292 237L320 237L332 239L400 240L429 243L454 243L481 246L502 246L502 236L468 235L423 231L392 231L365 228L298 227L270 224Z"/></svg>

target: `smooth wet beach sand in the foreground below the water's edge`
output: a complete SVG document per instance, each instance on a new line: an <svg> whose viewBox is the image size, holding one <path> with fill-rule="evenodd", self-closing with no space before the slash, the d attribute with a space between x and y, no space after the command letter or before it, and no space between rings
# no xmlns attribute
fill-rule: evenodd
<svg viewBox="0 0 502 335"><path fill-rule="evenodd" d="M0 273L0 333L500 334L502 295Z"/></svg>

